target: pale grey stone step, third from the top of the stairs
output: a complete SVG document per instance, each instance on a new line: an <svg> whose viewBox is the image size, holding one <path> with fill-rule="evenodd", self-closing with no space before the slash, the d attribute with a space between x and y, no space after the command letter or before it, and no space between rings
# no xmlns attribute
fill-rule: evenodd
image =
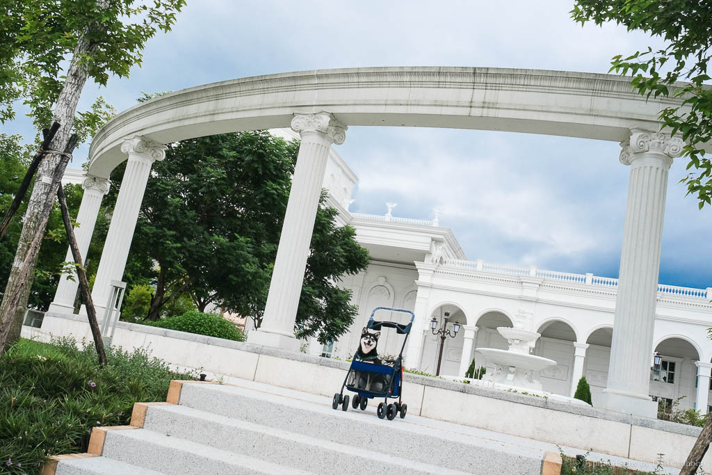
<svg viewBox="0 0 712 475"><path fill-rule="evenodd" d="M107 432L102 458L166 475L312 473L292 468L288 460L280 465L148 429Z"/></svg>

